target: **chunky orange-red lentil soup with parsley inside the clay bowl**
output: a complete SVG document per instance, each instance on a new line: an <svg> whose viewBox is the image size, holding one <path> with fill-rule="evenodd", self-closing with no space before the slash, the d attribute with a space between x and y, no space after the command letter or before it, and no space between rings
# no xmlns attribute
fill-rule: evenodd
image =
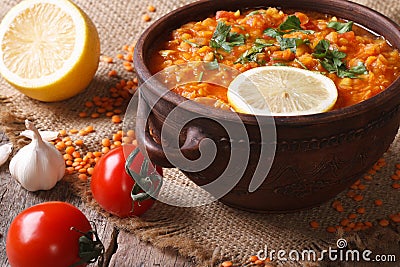
<svg viewBox="0 0 400 267"><path fill-rule="evenodd" d="M400 76L399 51L351 21L276 8L218 11L172 32L152 58L152 72L189 61L221 63L244 72L268 65L317 71L338 89L334 109L354 105L385 90ZM176 86L188 99L212 98L229 107L227 88L211 83ZM202 101L200 101L202 102Z"/></svg>

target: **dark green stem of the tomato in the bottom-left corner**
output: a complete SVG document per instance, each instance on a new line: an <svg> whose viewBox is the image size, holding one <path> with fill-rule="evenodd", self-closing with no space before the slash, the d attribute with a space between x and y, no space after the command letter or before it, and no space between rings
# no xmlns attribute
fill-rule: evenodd
<svg viewBox="0 0 400 267"><path fill-rule="evenodd" d="M81 233L79 237L79 258L78 262L75 262L70 267L76 267L86 263L94 263L99 260L99 263L103 261L104 245L101 242L98 234L96 225L92 223L94 230L88 232L82 232L75 227L71 227L71 230ZM99 264L100 266L102 264Z"/></svg>

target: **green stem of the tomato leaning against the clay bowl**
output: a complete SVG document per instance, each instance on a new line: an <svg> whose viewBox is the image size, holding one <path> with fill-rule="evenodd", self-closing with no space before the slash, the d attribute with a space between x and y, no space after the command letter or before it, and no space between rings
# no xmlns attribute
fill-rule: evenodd
<svg viewBox="0 0 400 267"><path fill-rule="evenodd" d="M162 177L159 175L154 168L153 173L149 172L149 160L144 158L142 166L140 167L140 173L133 171L130 166L134 159L139 154L140 149L136 148L128 156L125 163L125 170L135 180L135 185L132 188L131 197L133 202L139 202L149 199L159 193L162 186ZM133 209L134 205L132 205Z"/></svg>

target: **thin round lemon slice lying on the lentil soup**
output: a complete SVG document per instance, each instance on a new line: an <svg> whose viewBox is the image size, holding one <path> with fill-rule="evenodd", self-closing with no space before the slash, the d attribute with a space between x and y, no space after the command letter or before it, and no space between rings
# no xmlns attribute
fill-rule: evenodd
<svg viewBox="0 0 400 267"><path fill-rule="evenodd" d="M228 101L241 113L298 116L329 111L338 92L328 77L309 70L265 66L239 74L229 85Z"/></svg>

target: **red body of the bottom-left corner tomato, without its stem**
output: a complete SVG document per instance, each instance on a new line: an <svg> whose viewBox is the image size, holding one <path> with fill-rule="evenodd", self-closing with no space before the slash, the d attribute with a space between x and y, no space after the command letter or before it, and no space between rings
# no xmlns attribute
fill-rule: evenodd
<svg viewBox="0 0 400 267"><path fill-rule="evenodd" d="M71 204L52 201L32 206L18 214L8 229L8 261L13 267L71 266L81 260L79 238L91 230L86 216Z"/></svg>

